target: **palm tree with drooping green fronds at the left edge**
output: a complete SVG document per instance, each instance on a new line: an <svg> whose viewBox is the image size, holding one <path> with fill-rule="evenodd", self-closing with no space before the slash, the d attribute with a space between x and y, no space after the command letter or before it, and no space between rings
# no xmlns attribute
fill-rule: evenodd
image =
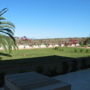
<svg viewBox="0 0 90 90"><path fill-rule="evenodd" d="M15 26L13 23L6 21L6 18L2 17L7 12L7 8L0 11L0 47L3 47L9 53L16 47L16 41L14 38Z"/></svg>

